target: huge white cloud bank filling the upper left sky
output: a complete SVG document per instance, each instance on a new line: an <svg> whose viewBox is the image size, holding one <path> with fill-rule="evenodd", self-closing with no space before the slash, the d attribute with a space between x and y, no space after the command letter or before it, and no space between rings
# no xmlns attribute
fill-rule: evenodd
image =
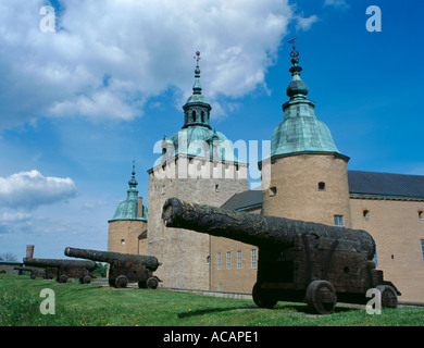
<svg viewBox="0 0 424 348"><path fill-rule="evenodd" d="M187 98L197 50L208 100L241 97L265 88L290 21L314 20L288 0L73 0L43 33L41 4L0 2L0 128L46 115L132 120L170 87Z"/></svg>

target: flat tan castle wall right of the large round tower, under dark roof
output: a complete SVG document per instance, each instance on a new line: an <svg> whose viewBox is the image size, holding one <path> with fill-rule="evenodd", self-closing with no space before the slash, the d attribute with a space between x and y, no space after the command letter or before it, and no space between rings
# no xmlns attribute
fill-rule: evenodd
<svg viewBox="0 0 424 348"><path fill-rule="evenodd" d="M392 282L401 301L424 301L424 199L354 196L352 227L369 232L377 245L377 268Z"/></svg>

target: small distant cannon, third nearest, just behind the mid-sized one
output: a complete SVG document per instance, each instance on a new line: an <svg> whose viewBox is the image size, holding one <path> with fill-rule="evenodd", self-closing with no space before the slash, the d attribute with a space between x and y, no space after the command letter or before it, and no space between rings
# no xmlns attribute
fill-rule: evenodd
<svg viewBox="0 0 424 348"><path fill-rule="evenodd" d="M97 264L89 260L33 259L24 258L26 266L45 268L47 279L57 277L59 283L66 283L68 278L79 278L82 284L91 283L91 272Z"/></svg>

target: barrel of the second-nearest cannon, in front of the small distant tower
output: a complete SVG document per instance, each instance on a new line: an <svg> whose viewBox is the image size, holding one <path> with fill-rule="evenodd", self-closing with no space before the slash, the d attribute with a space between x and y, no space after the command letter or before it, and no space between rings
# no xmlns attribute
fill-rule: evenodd
<svg viewBox="0 0 424 348"><path fill-rule="evenodd" d="M100 251L100 250L90 250L90 249L78 249L78 248L65 248L65 256L88 259L93 261L113 263L115 261L121 262L135 262L140 263L150 271L155 271L160 263L155 257L142 256L142 254L130 254L130 253L121 253L121 252L111 252L111 251Z"/></svg>

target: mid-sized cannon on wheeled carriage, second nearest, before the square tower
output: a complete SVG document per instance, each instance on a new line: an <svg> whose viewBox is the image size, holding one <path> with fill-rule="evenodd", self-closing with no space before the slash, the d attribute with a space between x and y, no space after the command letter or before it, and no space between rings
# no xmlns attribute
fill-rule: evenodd
<svg viewBox="0 0 424 348"><path fill-rule="evenodd" d="M161 264L155 257L71 247L65 248L64 252L68 257L109 263L109 285L116 288L138 283L139 288L155 289L159 282L162 282L153 275Z"/></svg>

